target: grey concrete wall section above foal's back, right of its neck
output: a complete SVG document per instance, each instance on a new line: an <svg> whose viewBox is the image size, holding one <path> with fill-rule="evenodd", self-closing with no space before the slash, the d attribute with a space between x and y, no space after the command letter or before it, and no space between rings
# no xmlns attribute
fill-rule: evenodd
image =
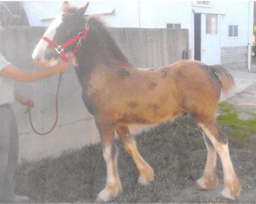
<svg viewBox="0 0 256 204"><path fill-rule="evenodd" d="M189 51L187 29L111 28L111 32L137 67L168 65Z"/></svg>

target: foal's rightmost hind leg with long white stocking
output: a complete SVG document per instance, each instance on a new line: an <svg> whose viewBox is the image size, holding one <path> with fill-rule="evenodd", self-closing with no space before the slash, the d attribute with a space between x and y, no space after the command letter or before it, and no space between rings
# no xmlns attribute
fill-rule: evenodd
<svg viewBox="0 0 256 204"><path fill-rule="evenodd" d="M216 123L213 121L208 123L201 122L198 125L204 130L204 133L210 139L221 158L224 174L224 190L222 190L221 194L225 198L234 200L241 192L241 185L230 159L227 136L218 129Z"/></svg>

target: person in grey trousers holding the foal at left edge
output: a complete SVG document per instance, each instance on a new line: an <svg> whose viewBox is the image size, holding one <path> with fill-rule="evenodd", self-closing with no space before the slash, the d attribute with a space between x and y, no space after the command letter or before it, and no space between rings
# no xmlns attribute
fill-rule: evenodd
<svg viewBox="0 0 256 204"><path fill-rule="evenodd" d="M0 21L0 36L3 27ZM62 62L55 67L42 71L20 71L8 62L0 52L0 203L26 203L29 198L15 195L15 170L18 161L18 131L12 103L16 99L21 104L34 107L28 99L14 94L13 81L35 82L54 74L67 71L68 63Z"/></svg>

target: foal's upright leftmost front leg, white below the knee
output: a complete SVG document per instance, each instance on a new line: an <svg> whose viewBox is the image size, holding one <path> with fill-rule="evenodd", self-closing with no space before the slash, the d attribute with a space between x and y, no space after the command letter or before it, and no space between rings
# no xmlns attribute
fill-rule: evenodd
<svg viewBox="0 0 256 204"><path fill-rule="evenodd" d="M114 144L113 125L97 123L97 128L102 139L103 157L107 165L107 179L105 188L99 193L96 202L102 203L115 198L122 192L122 184L118 174L116 148Z"/></svg>

